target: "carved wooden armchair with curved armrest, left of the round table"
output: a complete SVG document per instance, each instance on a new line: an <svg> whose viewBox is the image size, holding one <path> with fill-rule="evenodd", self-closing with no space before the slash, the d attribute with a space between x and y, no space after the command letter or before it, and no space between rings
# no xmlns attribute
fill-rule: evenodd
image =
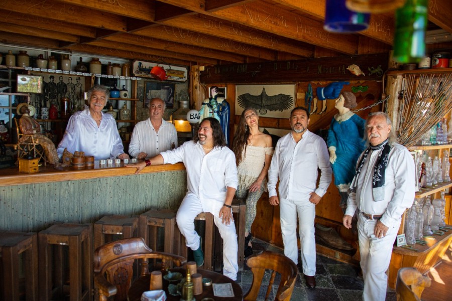
<svg viewBox="0 0 452 301"><path fill-rule="evenodd" d="M120 239L98 247L94 251L94 288L99 300L106 301L113 295L116 301L127 300L135 260L141 260L140 272L136 275L139 277L149 274L148 259L160 259L162 270L166 262L176 266L186 263L182 256L152 251L141 237Z"/></svg>

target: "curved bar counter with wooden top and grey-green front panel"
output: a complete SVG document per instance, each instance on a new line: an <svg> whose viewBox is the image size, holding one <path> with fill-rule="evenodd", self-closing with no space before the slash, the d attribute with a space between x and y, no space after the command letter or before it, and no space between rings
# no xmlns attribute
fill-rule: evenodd
<svg viewBox="0 0 452 301"><path fill-rule="evenodd" d="M55 169L38 173L0 170L0 229L40 231L56 221L94 223L104 215L140 215L150 209L177 209L187 187L182 163L135 168Z"/></svg>

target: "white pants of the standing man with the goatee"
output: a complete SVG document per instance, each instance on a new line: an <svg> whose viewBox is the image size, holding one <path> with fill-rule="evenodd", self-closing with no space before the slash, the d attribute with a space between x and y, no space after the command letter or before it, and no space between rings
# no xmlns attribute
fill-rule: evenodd
<svg viewBox="0 0 452 301"><path fill-rule="evenodd" d="M315 275L315 205L307 200L280 199L279 215L284 243L284 255L298 263L297 214L300 230L301 263L303 274Z"/></svg>

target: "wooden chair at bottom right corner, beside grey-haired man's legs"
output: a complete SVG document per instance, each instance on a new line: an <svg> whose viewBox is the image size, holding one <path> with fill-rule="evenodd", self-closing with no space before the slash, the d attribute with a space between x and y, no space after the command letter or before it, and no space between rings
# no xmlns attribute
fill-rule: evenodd
<svg viewBox="0 0 452 301"><path fill-rule="evenodd" d="M431 279L415 267L402 267L397 273L397 301L420 301L420 295L425 287L431 285Z"/></svg>

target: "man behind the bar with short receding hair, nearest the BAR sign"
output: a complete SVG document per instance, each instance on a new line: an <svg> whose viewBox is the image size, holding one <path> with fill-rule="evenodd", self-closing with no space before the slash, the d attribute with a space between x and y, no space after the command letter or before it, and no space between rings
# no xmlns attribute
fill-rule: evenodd
<svg viewBox="0 0 452 301"><path fill-rule="evenodd" d="M166 104L162 99L151 99L149 118L138 122L134 127L129 145L131 157L144 160L178 146L176 128L162 118L165 108Z"/></svg>

